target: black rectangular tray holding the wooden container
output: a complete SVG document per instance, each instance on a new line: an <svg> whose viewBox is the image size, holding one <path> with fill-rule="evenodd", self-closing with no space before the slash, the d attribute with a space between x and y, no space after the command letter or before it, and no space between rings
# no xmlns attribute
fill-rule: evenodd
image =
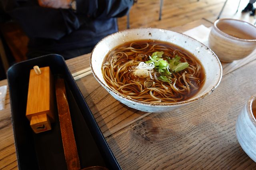
<svg viewBox="0 0 256 170"><path fill-rule="evenodd" d="M121 169L64 58L55 54L14 64L7 71L18 168L20 170L67 169L56 100L54 111L56 121L52 124L52 130L35 134L26 118L29 74L34 65L50 66L54 77L61 76L65 80L81 168L103 166L111 170Z"/></svg>

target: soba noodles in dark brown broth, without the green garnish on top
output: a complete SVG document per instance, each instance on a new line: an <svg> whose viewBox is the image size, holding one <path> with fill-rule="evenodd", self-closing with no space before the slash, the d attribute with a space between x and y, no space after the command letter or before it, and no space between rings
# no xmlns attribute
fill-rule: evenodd
<svg viewBox="0 0 256 170"><path fill-rule="evenodd" d="M176 55L189 66L178 72L168 68L169 82L161 81L156 69L136 73L141 62L146 62L156 51L163 51L165 60ZM117 93L149 103L174 103L193 97L205 78L200 61L185 49L157 40L124 43L112 49L105 57L102 73L108 85Z"/></svg>

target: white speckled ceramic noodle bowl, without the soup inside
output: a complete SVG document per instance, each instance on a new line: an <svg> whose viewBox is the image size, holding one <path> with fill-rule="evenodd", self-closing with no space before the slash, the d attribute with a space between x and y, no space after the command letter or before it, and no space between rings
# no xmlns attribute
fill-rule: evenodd
<svg viewBox="0 0 256 170"><path fill-rule="evenodd" d="M114 47L132 40L161 40L174 43L193 53L202 63L206 80L200 91L191 99L177 103L147 103L130 99L113 91L105 82L101 67L106 54ZM158 28L138 28L122 32L117 32L102 39L93 49L90 58L90 66L96 80L112 95L116 100L140 111L145 112L166 112L178 107L188 105L210 95L219 85L222 78L222 66L218 57L204 44L190 38L184 34L163 30Z"/></svg>

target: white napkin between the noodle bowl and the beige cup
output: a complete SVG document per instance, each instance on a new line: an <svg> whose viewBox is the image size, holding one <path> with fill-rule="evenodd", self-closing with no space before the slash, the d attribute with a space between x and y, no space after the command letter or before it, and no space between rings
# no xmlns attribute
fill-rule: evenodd
<svg viewBox="0 0 256 170"><path fill-rule="evenodd" d="M211 31L210 28L207 28L204 25L200 25L188 31L183 32L183 34L190 36L207 46L210 31Z"/></svg>

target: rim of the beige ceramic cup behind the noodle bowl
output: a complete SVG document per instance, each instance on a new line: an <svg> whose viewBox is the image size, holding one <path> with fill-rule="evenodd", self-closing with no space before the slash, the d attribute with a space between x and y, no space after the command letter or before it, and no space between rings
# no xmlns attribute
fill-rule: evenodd
<svg viewBox="0 0 256 170"><path fill-rule="evenodd" d="M236 19L232 19L232 18L221 18L221 19L218 19L218 20L216 20L216 21L214 22L214 28L215 28L218 32L220 32L220 34L222 34L223 36L226 36L226 37L228 37L228 38L231 38L231 39L233 39L233 40L239 40L239 41L244 41L244 42L256 42L256 39L242 39L242 38L236 38L236 37L234 37L234 36L230 36L229 34L226 34L226 33L223 32L222 30L220 30L220 29L217 27L217 24L218 24L219 22L224 21L224 20L234 20L234 21L237 21L237 22L243 22L243 23L246 23L246 24L248 24L248 25L250 25L250 26L252 26L252 27L254 27L254 28L256 29L256 26L254 26L254 25L252 25L252 24L250 24L250 23L248 23L248 22L242 21L242 20L236 20Z"/></svg>

